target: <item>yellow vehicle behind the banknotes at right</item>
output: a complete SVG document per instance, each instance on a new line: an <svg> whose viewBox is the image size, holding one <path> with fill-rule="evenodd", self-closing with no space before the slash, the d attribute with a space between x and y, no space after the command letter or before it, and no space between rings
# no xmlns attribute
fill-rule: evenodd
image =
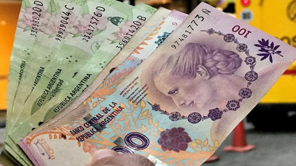
<svg viewBox="0 0 296 166"><path fill-rule="evenodd" d="M296 0L235 0L235 11L238 19L296 47ZM291 124L295 115L296 61L248 115L248 120L258 128L287 129L294 126Z"/></svg>

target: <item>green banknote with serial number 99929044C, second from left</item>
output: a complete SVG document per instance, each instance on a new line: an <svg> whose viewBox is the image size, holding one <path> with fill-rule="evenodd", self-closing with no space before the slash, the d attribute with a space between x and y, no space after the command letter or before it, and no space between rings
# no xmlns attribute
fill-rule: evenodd
<svg viewBox="0 0 296 166"><path fill-rule="evenodd" d="M70 31L77 17L82 15L82 6L85 2L81 1L76 5L69 1L51 0L49 4L46 9L49 15L48 22L39 28L40 32L33 44L15 95L12 120L17 118L44 71L62 46L67 32Z"/></svg>

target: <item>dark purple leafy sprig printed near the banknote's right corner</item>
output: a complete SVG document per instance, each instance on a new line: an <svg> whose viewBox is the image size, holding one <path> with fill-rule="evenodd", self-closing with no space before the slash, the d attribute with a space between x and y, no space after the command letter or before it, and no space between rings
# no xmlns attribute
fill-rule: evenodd
<svg viewBox="0 0 296 166"><path fill-rule="evenodd" d="M269 40L265 41L264 39L258 40L259 44L254 44L254 46L256 47L260 47L260 52L264 52L261 54L257 54L258 56L261 56L261 60L264 60L266 58L269 57L269 61L272 63L273 59L272 59L272 55L274 54L278 54L281 57L284 57L281 55L281 51L276 51L278 49L278 47L280 47L280 45L274 46L274 43L271 42L271 44L269 45Z"/></svg>

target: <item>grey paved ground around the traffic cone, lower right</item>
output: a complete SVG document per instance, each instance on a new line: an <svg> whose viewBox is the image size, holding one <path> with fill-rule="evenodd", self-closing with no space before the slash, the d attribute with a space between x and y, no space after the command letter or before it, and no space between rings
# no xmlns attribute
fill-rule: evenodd
<svg viewBox="0 0 296 166"><path fill-rule="evenodd" d="M225 152L223 147L230 145L229 135L216 151L220 160L203 164L204 166L288 166L296 165L296 132L263 132L249 130L246 132L247 142L256 145L253 151L245 153Z"/></svg>

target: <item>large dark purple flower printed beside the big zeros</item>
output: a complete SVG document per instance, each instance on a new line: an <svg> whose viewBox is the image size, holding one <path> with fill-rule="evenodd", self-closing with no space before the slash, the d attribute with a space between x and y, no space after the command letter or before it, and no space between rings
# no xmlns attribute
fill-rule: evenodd
<svg viewBox="0 0 296 166"><path fill-rule="evenodd" d="M161 146L163 151L186 151L188 148L188 143L191 142L192 139L185 132L183 127L173 127L172 129L166 129L165 131L160 133L160 138L157 140L157 143Z"/></svg>

